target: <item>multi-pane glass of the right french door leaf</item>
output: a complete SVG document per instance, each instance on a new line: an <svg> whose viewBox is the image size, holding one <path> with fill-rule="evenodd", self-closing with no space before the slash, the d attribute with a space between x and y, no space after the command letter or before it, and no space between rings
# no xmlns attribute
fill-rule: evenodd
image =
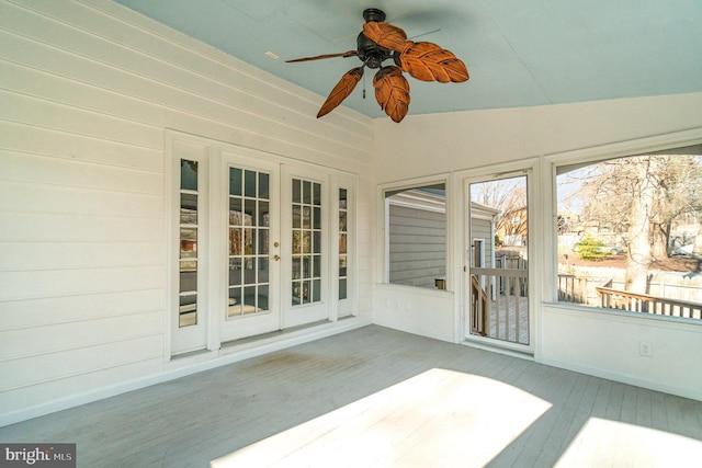
<svg viewBox="0 0 702 468"><path fill-rule="evenodd" d="M292 180L292 305L321 301L321 184Z"/></svg>

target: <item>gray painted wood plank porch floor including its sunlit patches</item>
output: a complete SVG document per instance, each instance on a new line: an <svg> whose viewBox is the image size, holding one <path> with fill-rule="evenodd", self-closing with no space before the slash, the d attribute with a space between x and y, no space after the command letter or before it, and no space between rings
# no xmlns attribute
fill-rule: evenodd
<svg viewBox="0 0 702 468"><path fill-rule="evenodd" d="M262 440L222 466L699 466L702 402L371 326L0 427L77 443L79 467L206 467Z"/></svg>

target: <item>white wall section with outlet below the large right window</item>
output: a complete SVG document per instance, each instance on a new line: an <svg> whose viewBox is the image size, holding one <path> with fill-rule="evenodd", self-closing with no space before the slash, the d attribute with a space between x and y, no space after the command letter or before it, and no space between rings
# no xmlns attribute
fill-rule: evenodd
<svg viewBox="0 0 702 468"><path fill-rule="evenodd" d="M544 364L702 400L699 323L544 305L541 328Z"/></svg>

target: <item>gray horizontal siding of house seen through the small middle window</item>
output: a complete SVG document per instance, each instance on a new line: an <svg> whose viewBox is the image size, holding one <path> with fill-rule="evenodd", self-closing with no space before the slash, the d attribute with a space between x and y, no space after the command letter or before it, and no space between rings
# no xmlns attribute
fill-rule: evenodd
<svg viewBox="0 0 702 468"><path fill-rule="evenodd" d="M446 274L446 215L389 205L389 282L434 287Z"/></svg>

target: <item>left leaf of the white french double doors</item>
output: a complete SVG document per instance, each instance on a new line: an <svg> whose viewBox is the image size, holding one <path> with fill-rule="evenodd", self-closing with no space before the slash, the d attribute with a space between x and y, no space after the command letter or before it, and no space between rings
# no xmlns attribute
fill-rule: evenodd
<svg viewBox="0 0 702 468"><path fill-rule="evenodd" d="M226 304L219 339L230 341L281 328L280 164L223 152ZM225 270L226 269L226 270ZM222 289L222 288L219 288Z"/></svg>

